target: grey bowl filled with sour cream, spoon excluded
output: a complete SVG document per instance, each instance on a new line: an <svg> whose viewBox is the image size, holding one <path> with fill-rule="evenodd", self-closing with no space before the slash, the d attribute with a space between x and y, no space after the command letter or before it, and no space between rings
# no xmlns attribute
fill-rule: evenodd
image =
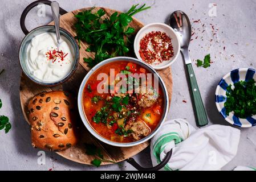
<svg viewBox="0 0 256 182"><path fill-rule="evenodd" d="M79 47L74 37L60 28L58 49L54 26L42 26L22 40L19 61L23 73L32 81L44 86L58 85L78 67Z"/></svg>

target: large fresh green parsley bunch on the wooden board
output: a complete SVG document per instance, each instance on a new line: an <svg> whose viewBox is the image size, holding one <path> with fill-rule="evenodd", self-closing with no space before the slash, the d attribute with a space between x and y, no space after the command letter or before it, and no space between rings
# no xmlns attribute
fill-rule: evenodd
<svg viewBox="0 0 256 182"><path fill-rule="evenodd" d="M128 24L132 22L133 15L150 8L145 7L145 4L139 8L137 6L139 4L133 5L126 13L115 12L105 19L103 9L92 13L94 7L75 15L78 20L74 24L77 34L75 38L79 44L81 40L90 44L86 51L95 53L94 59L84 57L89 67L94 67L109 57L124 56L130 51L132 41L129 38L135 30L128 27Z"/></svg>

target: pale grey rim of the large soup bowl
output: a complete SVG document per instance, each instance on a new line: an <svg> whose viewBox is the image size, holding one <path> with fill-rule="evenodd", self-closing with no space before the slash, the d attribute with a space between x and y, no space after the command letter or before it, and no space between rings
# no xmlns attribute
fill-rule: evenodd
<svg viewBox="0 0 256 182"><path fill-rule="evenodd" d="M93 128L92 126L90 125L90 123L87 121L87 118L86 118L86 114L84 113L83 111L83 90L84 90L84 87L86 86L86 82L88 81L88 78L91 77L92 73L94 73L97 69L99 69L100 67L102 67L103 65L105 64L108 64L108 63L112 63L113 61L118 61L118 60L124 60L124 61L134 61L134 62L139 62L141 64L143 64L147 69L149 69L149 71L153 72L153 73L156 73L157 76L159 77L159 82L162 86L162 89L163 89L163 93L164 93L164 97L166 98L166 101L165 101L165 110L164 110L164 117L162 117L162 120L160 121L160 124L159 126L157 126L157 128L155 130L153 130L151 132L151 134L149 134L147 137L143 138L143 139L140 139L140 140L137 140L135 142L129 142L129 143L120 143L120 142L113 142L111 140L108 140L104 137L102 137L100 134L98 134ZM109 58L107 60L104 60L102 62L100 62L99 64L97 64L94 68L92 68L88 73L87 75L84 77L81 85L80 85L80 88L79 88L79 92L78 92L78 110L79 110L79 115L80 115L80 118L82 119L82 122L84 123L84 125L86 126L87 130L92 134L94 135L95 138L99 139L101 142L104 142L104 143L107 143L111 146L116 146L116 147L132 147L132 146L137 146L141 143L144 143L144 142L147 142L149 139L151 139L161 128L161 126L163 125L166 117L167 117L167 114L168 114L168 111L169 111L169 96L168 96L168 90L166 89L166 86L164 84L164 81L162 80L162 78L160 77L159 73L157 73L155 71L155 69L153 69L150 65L144 63L144 61L141 61L139 59L136 59L134 57L125 57L125 56L120 56L120 57L112 57L112 58Z"/></svg>

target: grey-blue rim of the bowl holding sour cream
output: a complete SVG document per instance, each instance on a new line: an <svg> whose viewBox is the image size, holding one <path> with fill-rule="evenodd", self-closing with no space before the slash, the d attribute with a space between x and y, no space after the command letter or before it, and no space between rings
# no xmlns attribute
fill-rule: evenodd
<svg viewBox="0 0 256 182"><path fill-rule="evenodd" d="M76 42L74 36L71 35L70 32L68 32L65 28L62 28L60 27L60 31L63 31L65 32L74 42L75 44L75 47L74 47L74 50L75 50L75 56L76 56L76 59L74 60L75 63L74 63L74 66L73 68L71 69L71 71L68 73L68 75L66 77L64 77L62 80L59 80L59 81L55 81L55 82L40 82L40 81L37 81L35 80L34 78L30 77L30 74L28 74L27 72L24 71L24 68L22 67L22 59L21 59L21 49L22 49L22 44L24 43L24 41L26 40L26 38L31 35L34 31L40 29L40 28L44 28L44 27L51 27L51 28L55 28L55 26L53 25L43 25L43 26L39 26L39 27L36 27L34 29L32 29L21 41L21 44L19 46L19 66L21 67L22 69L22 72L26 75L27 78L29 78L31 81L35 82L36 84L38 85L42 85L42 86L56 86L56 85L60 85L60 84L63 84L63 82L67 81L76 71L76 69L78 68L78 64L79 64L79 59L80 59L80 50L79 50L79 46L78 46L78 43Z"/></svg>

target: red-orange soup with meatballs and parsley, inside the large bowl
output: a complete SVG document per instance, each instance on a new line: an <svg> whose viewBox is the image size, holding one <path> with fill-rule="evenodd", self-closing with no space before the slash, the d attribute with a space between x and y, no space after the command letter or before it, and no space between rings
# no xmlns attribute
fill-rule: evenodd
<svg viewBox="0 0 256 182"><path fill-rule="evenodd" d="M149 72L128 61L109 63L91 75L83 90L83 110L92 128L113 142L128 143L147 137L158 126L164 107L163 92L134 73ZM107 76L97 80L99 75ZM114 76L111 79L111 75ZM126 85L119 86L120 82ZM102 93L103 88L107 92Z"/></svg>

